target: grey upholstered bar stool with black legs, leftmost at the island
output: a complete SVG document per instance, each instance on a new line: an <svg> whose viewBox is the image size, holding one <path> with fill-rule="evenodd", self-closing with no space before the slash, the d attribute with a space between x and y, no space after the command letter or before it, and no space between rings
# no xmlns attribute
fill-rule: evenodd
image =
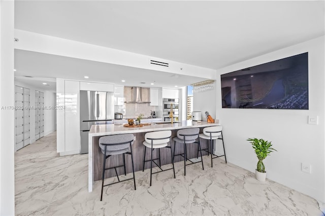
<svg viewBox="0 0 325 216"><path fill-rule="evenodd" d="M99 146L104 155L101 201L103 199L103 188L109 185L113 185L119 182L124 182L133 179L134 190L136 190L136 179L134 177L134 163L133 163L133 154L132 154L133 137L134 137L133 134L118 134L118 135L102 136L99 139ZM120 155L120 154L123 154L123 165L106 168L106 159L111 157L112 155ZM124 174L126 175L125 154L131 155L133 178L128 178L128 179L124 179L123 181L120 181L116 168L124 167ZM105 170L113 169L113 168L115 169L118 182L104 185Z"/></svg>

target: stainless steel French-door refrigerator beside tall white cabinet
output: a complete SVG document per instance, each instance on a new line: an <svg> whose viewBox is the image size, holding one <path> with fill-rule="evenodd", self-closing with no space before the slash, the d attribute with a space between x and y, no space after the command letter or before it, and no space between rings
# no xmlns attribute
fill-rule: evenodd
<svg viewBox="0 0 325 216"><path fill-rule="evenodd" d="M80 154L88 153L91 125L113 124L114 93L80 91Z"/></svg>

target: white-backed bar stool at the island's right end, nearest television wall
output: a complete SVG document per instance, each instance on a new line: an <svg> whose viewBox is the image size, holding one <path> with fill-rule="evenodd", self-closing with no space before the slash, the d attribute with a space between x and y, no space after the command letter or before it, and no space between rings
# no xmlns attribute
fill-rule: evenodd
<svg viewBox="0 0 325 216"><path fill-rule="evenodd" d="M212 126L212 127L206 127L203 128L203 133L200 133L200 138L206 139L207 140L207 149L203 149L203 151L208 152L209 155L209 141L211 143L211 167L213 167L212 159L214 158L219 158L224 156L225 163L227 163L227 159L225 157L225 151L224 151L224 143L223 143L223 135L222 135L222 126ZM216 139L221 139L222 140L222 146L223 146L223 155L217 156L213 154L213 143L215 143ZM208 151L207 151L208 150ZM216 156L213 158L213 155ZM199 151L198 151L198 156L199 156Z"/></svg>

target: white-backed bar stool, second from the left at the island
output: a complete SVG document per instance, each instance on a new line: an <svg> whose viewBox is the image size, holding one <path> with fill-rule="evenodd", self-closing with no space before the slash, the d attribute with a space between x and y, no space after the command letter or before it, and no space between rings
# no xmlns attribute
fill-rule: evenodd
<svg viewBox="0 0 325 216"><path fill-rule="evenodd" d="M142 171L144 171L144 163L150 161L150 186L151 186L152 174L172 169L172 168L165 169L165 170L161 169L161 167L160 167L161 166L160 148L169 148L169 149L171 149L171 156L172 156L172 163L173 163L173 170L174 170L174 178L176 178L172 148L171 148L171 146L168 146L168 142L171 143L171 136L172 136L172 131L171 130L148 132L148 133L146 133L144 135L145 141L143 141L143 145L145 146L145 148L144 148L143 169L142 169ZM146 149L147 148L151 149L151 159L146 161L145 159L146 159ZM159 150L159 158L152 159L152 152L153 152L154 149ZM159 160L159 165L154 160ZM157 172L152 173L152 162L155 163L160 168L161 171L157 171Z"/></svg>

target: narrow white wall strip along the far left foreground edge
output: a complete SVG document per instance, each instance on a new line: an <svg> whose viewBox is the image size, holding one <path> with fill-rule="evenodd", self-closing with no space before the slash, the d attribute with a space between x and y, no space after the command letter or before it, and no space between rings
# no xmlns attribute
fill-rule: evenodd
<svg viewBox="0 0 325 216"><path fill-rule="evenodd" d="M0 1L0 107L14 106L14 1ZM0 110L0 215L15 214L14 110Z"/></svg>

